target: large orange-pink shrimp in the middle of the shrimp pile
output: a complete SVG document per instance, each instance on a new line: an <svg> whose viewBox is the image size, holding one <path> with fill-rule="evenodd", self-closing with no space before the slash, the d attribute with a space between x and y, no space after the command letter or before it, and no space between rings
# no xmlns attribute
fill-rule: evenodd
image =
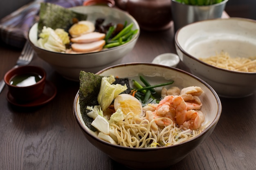
<svg viewBox="0 0 256 170"><path fill-rule="evenodd" d="M152 112L154 119L166 117L167 119L156 120L159 126L168 126L172 121L182 125L186 119L186 103L180 96L168 95L162 99L155 111Z"/></svg>

